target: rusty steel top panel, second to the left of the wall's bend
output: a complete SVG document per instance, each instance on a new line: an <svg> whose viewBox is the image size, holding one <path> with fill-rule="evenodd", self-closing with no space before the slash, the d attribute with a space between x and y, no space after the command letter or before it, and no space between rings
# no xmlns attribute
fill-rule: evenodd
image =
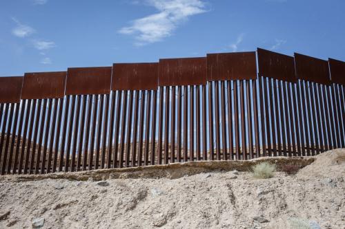
<svg viewBox="0 0 345 229"><path fill-rule="evenodd" d="M159 60L159 86L205 85L206 58L167 58Z"/></svg>

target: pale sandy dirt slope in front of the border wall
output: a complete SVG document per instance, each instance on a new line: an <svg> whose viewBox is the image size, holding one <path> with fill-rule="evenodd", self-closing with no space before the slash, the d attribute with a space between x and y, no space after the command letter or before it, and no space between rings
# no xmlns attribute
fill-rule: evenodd
<svg viewBox="0 0 345 229"><path fill-rule="evenodd" d="M101 182L0 177L0 228L345 228L345 149L270 179L184 173Z"/></svg>

